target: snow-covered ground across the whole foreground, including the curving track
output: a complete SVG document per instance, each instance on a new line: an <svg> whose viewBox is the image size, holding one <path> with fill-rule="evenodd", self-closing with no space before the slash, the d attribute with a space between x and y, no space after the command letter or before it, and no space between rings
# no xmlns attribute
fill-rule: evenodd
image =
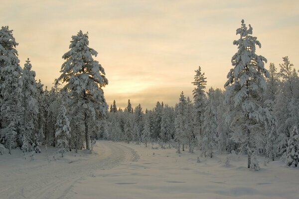
<svg viewBox="0 0 299 199"><path fill-rule="evenodd" d="M48 150L50 161L45 153L25 160L16 150L0 156L1 199L299 198L299 169L280 161L264 166L261 158L261 170L251 172L245 156L225 167L226 155L197 163L197 151L178 155L151 145L99 141L92 154L55 154L56 161Z"/></svg>

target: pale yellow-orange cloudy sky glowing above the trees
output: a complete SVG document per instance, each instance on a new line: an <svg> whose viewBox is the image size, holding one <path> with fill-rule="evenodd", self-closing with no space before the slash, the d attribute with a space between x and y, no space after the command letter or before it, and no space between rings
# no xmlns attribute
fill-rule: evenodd
<svg viewBox="0 0 299 199"><path fill-rule="evenodd" d="M0 0L0 25L19 45L20 65L30 58L36 79L51 88L71 36L89 33L95 60L109 84L107 103L153 108L174 105L181 91L192 99L198 66L207 89L221 88L237 52L241 20L262 44L256 53L276 67L289 60L299 69L298 0Z"/></svg>

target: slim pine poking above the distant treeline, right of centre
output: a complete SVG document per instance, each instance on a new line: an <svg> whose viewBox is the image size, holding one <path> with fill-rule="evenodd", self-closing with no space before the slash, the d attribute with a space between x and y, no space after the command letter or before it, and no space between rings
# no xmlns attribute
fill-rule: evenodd
<svg viewBox="0 0 299 199"><path fill-rule="evenodd" d="M200 66L198 70L195 71L194 82L192 84L195 86L193 90L193 103L194 103L194 132L197 136L198 143L202 136L202 125L204 120L204 109L205 109L205 91L207 81L204 77L204 73L201 73Z"/></svg>

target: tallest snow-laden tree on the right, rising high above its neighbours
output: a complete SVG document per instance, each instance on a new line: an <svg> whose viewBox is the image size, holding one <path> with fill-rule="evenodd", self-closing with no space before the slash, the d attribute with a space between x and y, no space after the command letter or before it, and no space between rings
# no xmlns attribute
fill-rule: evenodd
<svg viewBox="0 0 299 199"><path fill-rule="evenodd" d="M251 25L247 28L244 20L241 22L241 28L236 31L240 38L233 42L238 46L238 52L232 57L233 68L227 75L228 81L224 87L233 137L247 150L250 168L254 139L263 126L261 103L266 89L264 76L269 77L269 72L264 68L266 58L255 53L256 45L261 47L261 43L252 36Z"/></svg>

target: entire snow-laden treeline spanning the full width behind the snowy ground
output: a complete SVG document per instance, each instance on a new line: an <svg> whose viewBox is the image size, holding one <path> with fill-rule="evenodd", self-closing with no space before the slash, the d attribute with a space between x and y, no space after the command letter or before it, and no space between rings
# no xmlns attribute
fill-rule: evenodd
<svg viewBox="0 0 299 199"><path fill-rule="evenodd" d="M268 160L282 158L287 165L299 165L299 77L288 57L276 67L256 55L261 47L252 27L242 20L233 42L238 51L232 57L225 90L210 88L201 68L195 71L193 99L183 92L171 107L157 102L151 110L130 100L122 110L110 106L102 87L108 84L103 67L93 59L88 35L72 36L70 50L63 55L61 76L51 91L35 81L27 60L20 68L12 31L0 31L0 143L19 147L24 153L39 152L41 144L56 146L63 153L71 149L92 149L94 139L145 143L172 143L177 153L197 147L205 157L213 152L237 151L248 155L248 168L258 170L256 155ZM59 83L64 83L58 89ZM163 144L165 143L165 144ZM0 149L3 147L0 146Z"/></svg>

